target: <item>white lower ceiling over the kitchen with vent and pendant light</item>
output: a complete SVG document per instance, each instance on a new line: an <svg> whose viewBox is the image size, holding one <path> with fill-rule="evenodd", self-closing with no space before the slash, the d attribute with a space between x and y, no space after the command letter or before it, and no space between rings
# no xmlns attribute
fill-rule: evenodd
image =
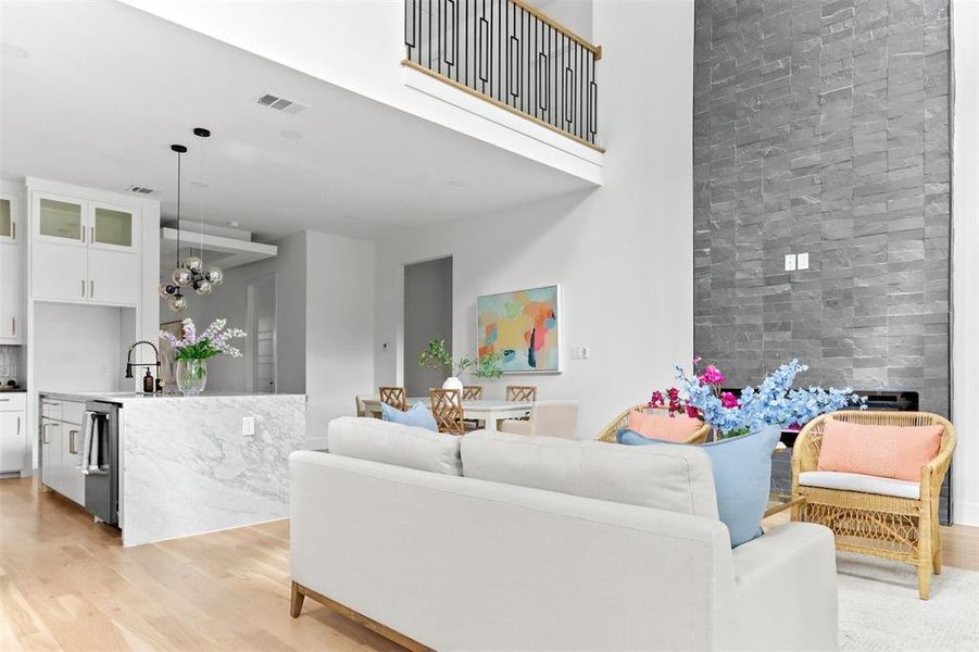
<svg viewBox="0 0 979 652"><path fill-rule="evenodd" d="M181 142L185 217L203 204L206 222L237 221L264 240L382 237L590 187L123 4L0 12L3 178L148 186L173 216L170 145ZM276 112L255 103L264 92L311 108ZM196 126L213 131L203 168Z"/></svg>

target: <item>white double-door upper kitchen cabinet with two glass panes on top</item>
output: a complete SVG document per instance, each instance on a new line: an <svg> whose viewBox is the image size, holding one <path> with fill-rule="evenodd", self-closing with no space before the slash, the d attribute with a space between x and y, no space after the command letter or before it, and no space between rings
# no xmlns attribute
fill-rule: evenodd
<svg viewBox="0 0 979 652"><path fill-rule="evenodd" d="M39 190L32 206L32 298L139 303L138 211Z"/></svg>

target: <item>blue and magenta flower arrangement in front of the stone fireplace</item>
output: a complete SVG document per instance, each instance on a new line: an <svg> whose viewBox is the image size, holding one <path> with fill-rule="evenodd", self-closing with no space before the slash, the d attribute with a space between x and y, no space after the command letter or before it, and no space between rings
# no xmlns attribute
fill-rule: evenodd
<svg viewBox="0 0 979 652"><path fill-rule="evenodd" d="M694 365L698 362L699 359ZM757 388L745 387L740 397L735 397L729 392L720 393L719 386L725 377L713 365L700 376L687 374L680 365L676 367L677 379L687 393L688 414L689 408L699 411L720 438L737 437L766 425L785 429L850 406L866 410L867 398L853 393L850 387L792 389L795 376L807 368L792 360L768 375Z"/></svg>

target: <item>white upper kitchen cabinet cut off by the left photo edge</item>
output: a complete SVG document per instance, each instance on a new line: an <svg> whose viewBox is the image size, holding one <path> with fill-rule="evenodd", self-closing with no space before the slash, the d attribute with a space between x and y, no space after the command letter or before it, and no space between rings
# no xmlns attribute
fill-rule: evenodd
<svg viewBox="0 0 979 652"><path fill-rule="evenodd" d="M0 344L23 343L20 214L18 196L0 192Z"/></svg>

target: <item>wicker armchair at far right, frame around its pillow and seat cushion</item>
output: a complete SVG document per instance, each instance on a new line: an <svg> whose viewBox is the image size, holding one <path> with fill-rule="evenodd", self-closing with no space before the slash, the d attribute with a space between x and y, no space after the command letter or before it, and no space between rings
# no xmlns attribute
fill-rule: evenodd
<svg viewBox="0 0 979 652"><path fill-rule="evenodd" d="M829 418L878 426L943 426L938 454L921 467L919 498L800 485L799 474L817 471L823 429ZM830 528L836 535L837 550L914 564L918 569L918 593L921 600L927 600L932 572L936 575L942 572L938 504L954 450L955 428L947 419L928 412L846 410L818 416L802 429L792 451L792 496L804 499L793 505L792 521Z"/></svg>

